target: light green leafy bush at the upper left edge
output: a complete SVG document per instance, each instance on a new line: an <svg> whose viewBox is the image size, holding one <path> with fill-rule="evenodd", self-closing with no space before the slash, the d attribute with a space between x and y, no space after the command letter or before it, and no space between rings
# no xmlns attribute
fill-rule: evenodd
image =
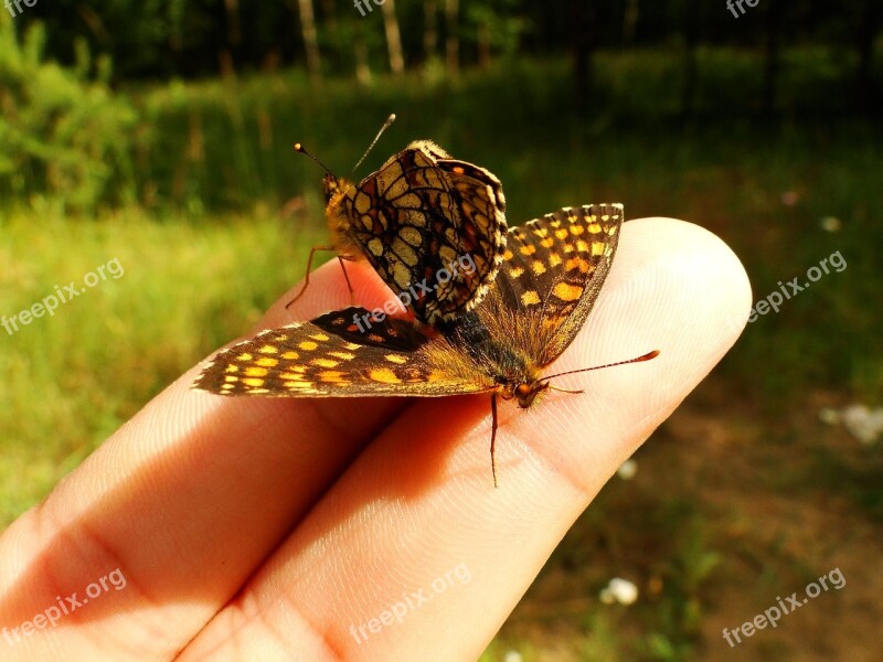
<svg viewBox="0 0 883 662"><path fill-rule="evenodd" d="M78 42L76 64L43 57L45 32L32 24L19 40L0 12L0 199L30 196L91 211L104 200L131 200L130 145L136 114L113 94L110 63L93 63Z"/></svg>

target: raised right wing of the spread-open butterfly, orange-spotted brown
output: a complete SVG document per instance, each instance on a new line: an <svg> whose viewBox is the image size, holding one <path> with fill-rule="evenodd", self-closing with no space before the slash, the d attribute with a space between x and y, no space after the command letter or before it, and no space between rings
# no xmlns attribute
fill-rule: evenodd
<svg viewBox="0 0 883 662"><path fill-rule="evenodd" d="M595 204L564 207L511 228L496 285L475 311L480 323L493 337L518 333L531 363L552 363L592 311L621 224L621 204Z"/></svg>

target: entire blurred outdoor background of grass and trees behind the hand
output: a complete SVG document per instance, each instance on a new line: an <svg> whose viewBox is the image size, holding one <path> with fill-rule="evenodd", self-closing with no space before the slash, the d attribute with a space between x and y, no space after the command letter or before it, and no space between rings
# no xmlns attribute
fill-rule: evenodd
<svg viewBox="0 0 883 662"><path fill-rule="evenodd" d="M510 224L684 218L764 301L483 660L879 659L883 6L752 2L6 2L0 524L302 277L327 231L291 145L348 174L394 111L360 175L429 138Z"/></svg>

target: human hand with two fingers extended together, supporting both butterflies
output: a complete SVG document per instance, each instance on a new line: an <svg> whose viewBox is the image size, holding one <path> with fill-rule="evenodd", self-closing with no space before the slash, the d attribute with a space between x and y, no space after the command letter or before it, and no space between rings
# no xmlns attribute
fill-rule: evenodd
<svg viewBox="0 0 883 662"><path fill-rule="evenodd" d="M376 276L348 268L355 300L382 305ZM298 290L253 331L350 303L337 260L286 310ZM553 380L584 393L528 410L501 402L496 490L487 395L222 398L189 388L194 366L0 537L8 631L116 568L126 578L54 628L0 637L0 656L476 659L749 308L714 235L627 222L595 310L546 373L660 355Z"/></svg>

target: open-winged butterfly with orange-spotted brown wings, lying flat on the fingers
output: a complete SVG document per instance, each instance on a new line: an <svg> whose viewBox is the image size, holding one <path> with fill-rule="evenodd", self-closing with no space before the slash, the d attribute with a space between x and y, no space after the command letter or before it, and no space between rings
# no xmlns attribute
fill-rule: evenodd
<svg viewBox="0 0 883 662"><path fill-rule="evenodd" d="M351 307L222 350L193 386L294 397L490 393L496 485L497 397L526 408L550 388L557 375L542 371L571 344L597 300L621 223L619 204L546 214L509 231L494 285L451 322L426 329Z"/></svg>

